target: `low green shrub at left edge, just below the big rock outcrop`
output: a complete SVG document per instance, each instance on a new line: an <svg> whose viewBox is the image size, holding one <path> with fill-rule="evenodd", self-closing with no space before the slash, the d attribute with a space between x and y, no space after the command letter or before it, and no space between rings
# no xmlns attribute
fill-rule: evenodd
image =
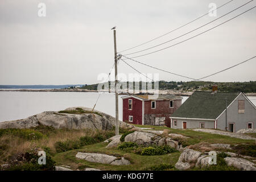
<svg viewBox="0 0 256 182"><path fill-rule="evenodd" d="M0 137L3 135L13 135L26 140L37 140L45 137L45 135L39 131L31 129L0 129Z"/></svg>

